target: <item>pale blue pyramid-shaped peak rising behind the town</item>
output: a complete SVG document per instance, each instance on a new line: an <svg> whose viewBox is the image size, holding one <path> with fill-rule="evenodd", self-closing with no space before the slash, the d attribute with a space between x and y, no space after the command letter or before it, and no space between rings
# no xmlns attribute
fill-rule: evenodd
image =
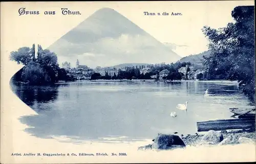
<svg viewBox="0 0 256 164"><path fill-rule="evenodd" d="M180 59L177 53L110 8L96 11L48 49L59 63L76 59L88 66L161 63Z"/></svg>

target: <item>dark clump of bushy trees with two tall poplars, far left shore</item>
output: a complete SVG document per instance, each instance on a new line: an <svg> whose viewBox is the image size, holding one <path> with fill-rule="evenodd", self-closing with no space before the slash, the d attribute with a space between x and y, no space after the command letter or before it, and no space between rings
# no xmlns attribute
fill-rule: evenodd
<svg viewBox="0 0 256 164"><path fill-rule="evenodd" d="M40 45L37 48L37 57L35 44L32 48L22 47L11 52L11 61L25 65L12 79L30 85L46 85L56 83L58 80L66 80L66 70L59 68L56 54L48 49L42 49Z"/></svg>

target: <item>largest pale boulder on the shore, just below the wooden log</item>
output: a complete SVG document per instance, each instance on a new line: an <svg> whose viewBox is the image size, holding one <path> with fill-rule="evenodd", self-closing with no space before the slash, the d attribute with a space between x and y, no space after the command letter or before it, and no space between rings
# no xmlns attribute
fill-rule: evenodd
<svg viewBox="0 0 256 164"><path fill-rule="evenodd" d="M209 130L204 134L201 142L204 144L219 144L223 140L223 135L219 131Z"/></svg>

